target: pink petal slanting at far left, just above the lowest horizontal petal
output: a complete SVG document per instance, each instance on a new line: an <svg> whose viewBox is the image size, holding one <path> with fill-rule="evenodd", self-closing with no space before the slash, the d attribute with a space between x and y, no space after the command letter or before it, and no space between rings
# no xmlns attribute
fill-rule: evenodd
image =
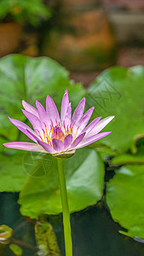
<svg viewBox="0 0 144 256"><path fill-rule="evenodd" d="M35 131L32 131L32 129L24 124L23 122L16 120L16 119L10 119L9 121L15 125L20 131L22 131L24 134L26 134L27 137L29 137L32 141L34 141L35 143L37 142L37 140L33 137L33 135L35 135L35 137L37 137L37 134ZM31 131L32 134L28 133L27 131Z"/></svg>

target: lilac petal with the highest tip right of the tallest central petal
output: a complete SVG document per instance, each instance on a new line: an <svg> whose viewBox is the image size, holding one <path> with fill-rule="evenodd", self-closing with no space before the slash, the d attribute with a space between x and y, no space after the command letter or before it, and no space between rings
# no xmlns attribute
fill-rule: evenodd
<svg viewBox="0 0 144 256"><path fill-rule="evenodd" d="M85 107L85 98L83 98L79 103L77 108L74 110L72 115L72 123L78 122L79 119L82 118L84 113L84 107Z"/></svg>

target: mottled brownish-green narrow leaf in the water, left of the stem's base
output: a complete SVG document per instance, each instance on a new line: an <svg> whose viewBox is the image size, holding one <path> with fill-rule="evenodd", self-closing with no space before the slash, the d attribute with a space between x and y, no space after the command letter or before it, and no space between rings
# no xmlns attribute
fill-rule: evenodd
<svg viewBox="0 0 144 256"><path fill-rule="evenodd" d="M35 224L35 236L38 247L38 255L60 256L53 227L46 220L40 220Z"/></svg>

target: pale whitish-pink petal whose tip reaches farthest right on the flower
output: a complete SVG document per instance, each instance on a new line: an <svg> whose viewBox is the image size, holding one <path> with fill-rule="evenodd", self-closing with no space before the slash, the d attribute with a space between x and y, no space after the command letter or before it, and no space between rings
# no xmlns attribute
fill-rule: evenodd
<svg viewBox="0 0 144 256"><path fill-rule="evenodd" d="M92 137L98 132L100 132L112 119L114 116L108 116L106 119L102 119L100 122L98 122L97 125L87 134L87 137Z"/></svg>

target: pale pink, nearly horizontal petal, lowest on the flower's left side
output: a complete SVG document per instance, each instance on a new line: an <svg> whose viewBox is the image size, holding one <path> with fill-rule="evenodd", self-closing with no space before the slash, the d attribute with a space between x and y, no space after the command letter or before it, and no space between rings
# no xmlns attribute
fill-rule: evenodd
<svg viewBox="0 0 144 256"><path fill-rule="evenodd" d="M16 143L4 143L3 145L6 148L17 148L17 149L22 149L22 150L27 150L27 151L46 153L46 151L40 145L38 145L36 143L16 142Z"/></svg>

